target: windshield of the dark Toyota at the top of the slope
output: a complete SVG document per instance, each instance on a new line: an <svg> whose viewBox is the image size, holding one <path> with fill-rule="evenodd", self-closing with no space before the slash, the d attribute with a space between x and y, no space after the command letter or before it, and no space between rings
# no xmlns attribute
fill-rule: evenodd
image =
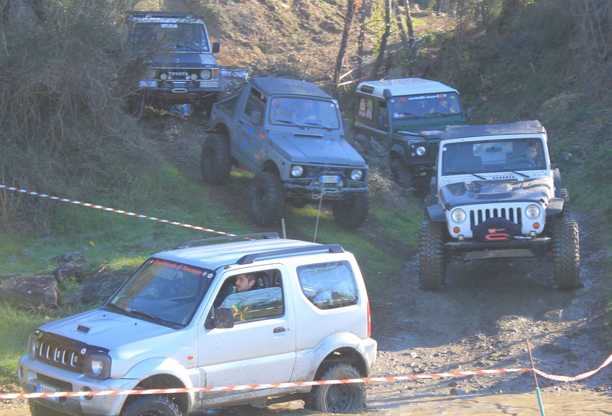
<svg viewBox="0 0 612 416"><path fill-rule="evenodd" d="M203 25L198 23L136 23L132 40L137 48L209 51Z"/></svg>

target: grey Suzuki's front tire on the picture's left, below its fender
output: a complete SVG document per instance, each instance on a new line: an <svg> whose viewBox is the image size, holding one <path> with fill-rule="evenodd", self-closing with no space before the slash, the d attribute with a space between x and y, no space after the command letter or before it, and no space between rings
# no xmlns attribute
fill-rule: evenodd
<svg viewBox="0 0 612 416"><path fill-rule="evenodd" d="M285 191L277 174L259 172L248 186L248 214L258 225L277 223L283 213Z"/></svg>

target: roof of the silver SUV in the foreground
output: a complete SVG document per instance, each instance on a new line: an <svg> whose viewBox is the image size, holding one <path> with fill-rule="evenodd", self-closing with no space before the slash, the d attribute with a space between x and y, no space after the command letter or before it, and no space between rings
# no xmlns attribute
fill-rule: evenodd
<svg viewBox="0 0 612 416"><path fill-rule="evenodd" d="M274 234L274 233L264 233ZM248 234L248 236L257 236L256 234ZM238 236L241 237L241 236ZM217 239L209 239L217 240ZM280 239L278 237L268 237L263 240L242 240L236 242L228 242L223 244L212 244L212 245L200 245L196 247L187 247L190 243L202 242L203 240L196 240L195 242L185 242L177 245L177 248L170 251L163 251L162 253L155 254L155 258L176 261L188 264L190 266L203 267L204 269L215 270L217 267L226 266L228 264L236 264L239 259L248 256L249 254L261 254L266 252L274 252L278 250L291 250L306 249L311 247L313 251L320 253L320 250L330 250L329 247L323 244L311 243L300 240L289 240ZM186 247L186 248L181 248ZM316 248L315 248L316 247ZM341 250L340 246L333 247L335 250ZM275 254L280 256L283 254ZM296 255L296 254L294 254ZM261 256L266 257L266 256ZM248 261L247 261L248 262Z"/></svg>

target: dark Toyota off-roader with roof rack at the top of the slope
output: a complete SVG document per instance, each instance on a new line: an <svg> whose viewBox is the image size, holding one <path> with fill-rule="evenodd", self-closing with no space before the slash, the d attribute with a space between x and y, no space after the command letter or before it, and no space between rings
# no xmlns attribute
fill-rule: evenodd
<svg viewBox="0 0 612 416"><path fill-rule="evenodd" d="M133 53L152 54L149 69L138 81L130 111L143 105L190 103L210 110L223 91L223 76L206 25L191 13L132 12L125 22Z"/></svg>

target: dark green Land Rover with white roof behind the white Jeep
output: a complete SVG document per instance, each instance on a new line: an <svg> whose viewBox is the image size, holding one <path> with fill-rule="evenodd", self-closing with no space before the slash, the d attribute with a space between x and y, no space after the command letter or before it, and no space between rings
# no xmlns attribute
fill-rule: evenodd
<svg viewBox="0 0 612 416"><path fill-rule="evenodd" d="M357 86L355 137L389 155L395 182L410 188L434 172L440 133L466 124L456 89L421 78L366 81Z"/></svg>

